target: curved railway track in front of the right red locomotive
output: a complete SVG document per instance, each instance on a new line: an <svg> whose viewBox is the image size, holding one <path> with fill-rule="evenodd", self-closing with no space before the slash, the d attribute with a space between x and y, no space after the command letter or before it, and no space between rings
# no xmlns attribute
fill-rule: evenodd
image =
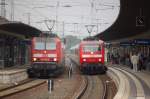
<svg viewBox="0 0 150 99"><path fill-rule="evenodd" d="M117 89L107 75L84 76L85 85L81 85L72 99L113 99Z"/></svg>

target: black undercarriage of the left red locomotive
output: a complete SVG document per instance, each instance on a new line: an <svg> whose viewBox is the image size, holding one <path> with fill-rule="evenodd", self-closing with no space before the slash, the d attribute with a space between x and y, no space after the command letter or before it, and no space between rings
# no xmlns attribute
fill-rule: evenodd
<svg viewBox="0 0 150 99"><path fill-rule="evenodd" d="M57 77L63 73L63 66L51 62L33 63L27 70L29 77Z"/></svg>

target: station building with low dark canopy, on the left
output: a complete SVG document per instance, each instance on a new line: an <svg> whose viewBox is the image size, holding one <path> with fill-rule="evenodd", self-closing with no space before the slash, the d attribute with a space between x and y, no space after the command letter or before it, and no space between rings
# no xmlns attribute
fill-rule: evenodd
<svg viewBox="0 0 150 99"><path fill-rule="evenodd" d="M40 30L29 25L0 17L0 68L29 64L30 40L40 33Z"/></svg>

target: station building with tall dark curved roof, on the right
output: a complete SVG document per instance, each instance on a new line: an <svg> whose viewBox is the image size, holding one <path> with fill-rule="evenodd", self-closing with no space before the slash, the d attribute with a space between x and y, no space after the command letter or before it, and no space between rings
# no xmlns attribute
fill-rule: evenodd
<svg viewBox="0 0 150 99"><path fill-rule="evenodd" d="M128 61L133 52L142 53L150 59L149 9L147 0L120 0L117 20L108 29L95 35L95 38L107 43L108 61L112 53L128 57ZM127 63L124 64L130 65Z"/></svg>

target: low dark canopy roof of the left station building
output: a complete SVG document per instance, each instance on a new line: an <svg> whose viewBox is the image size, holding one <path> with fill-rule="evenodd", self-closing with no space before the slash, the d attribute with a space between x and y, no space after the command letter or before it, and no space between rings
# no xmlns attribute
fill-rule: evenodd
<svg viewBox="0 0 150 99"><path fill-rule="evenodd" d="M1 20L0 31L9 32L11 34L23 35L25 37L39 36L41 31L30 25L21 22L11 22L8 20Z"/></svg>

